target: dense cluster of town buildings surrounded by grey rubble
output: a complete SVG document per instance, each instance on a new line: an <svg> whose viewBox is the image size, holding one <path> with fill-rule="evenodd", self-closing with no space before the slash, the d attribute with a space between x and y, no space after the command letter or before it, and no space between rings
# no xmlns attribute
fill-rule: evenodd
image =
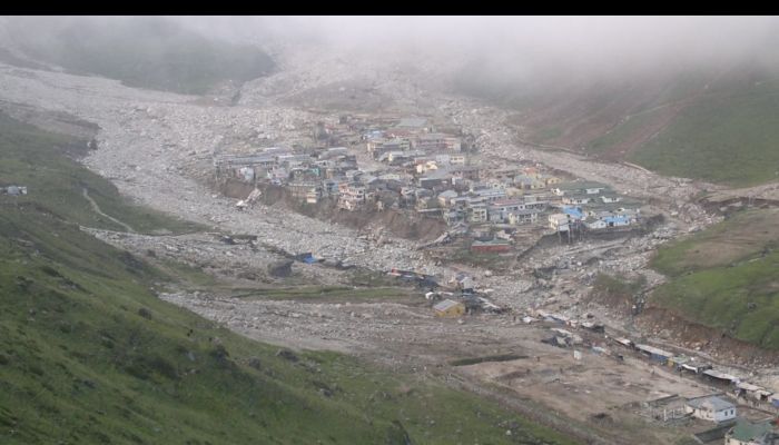
<svg viewBox="0 0 779 445"><path fill-rule="evenodd" d="M404 209L442 218L450 227L490 233L512 234L519 226L607 230L639 220L639 210L620 207L623 198L603 185L564 181L538 167L484 168L472 159L473 144L460 129L436 128L423 118L369 122L342 117L331 126L317 123L315 137L323 134L328 142L351 147L274 147L221 156L215 160L217 179L283 186L308 204L327 200L349 211ZM359 168L359 150L382 167ZM511 236L472 246L483 253L507 249Z"/></svg>

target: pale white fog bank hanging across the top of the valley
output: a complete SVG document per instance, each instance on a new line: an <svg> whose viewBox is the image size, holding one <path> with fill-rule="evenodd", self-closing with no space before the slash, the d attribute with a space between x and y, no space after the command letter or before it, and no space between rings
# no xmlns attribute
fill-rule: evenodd
<svg viewBox="0 0 779 445"><path fill-rule="evenodd" d="M777 17L168 17L201 33L388 63L470 63L511 79L779 66ZM127 18L29 18L52 22ZM29 29L29 28L28 28ZM37 31L36 31L37 32ZM36 32L28 33L28 36Z"/></svg>

